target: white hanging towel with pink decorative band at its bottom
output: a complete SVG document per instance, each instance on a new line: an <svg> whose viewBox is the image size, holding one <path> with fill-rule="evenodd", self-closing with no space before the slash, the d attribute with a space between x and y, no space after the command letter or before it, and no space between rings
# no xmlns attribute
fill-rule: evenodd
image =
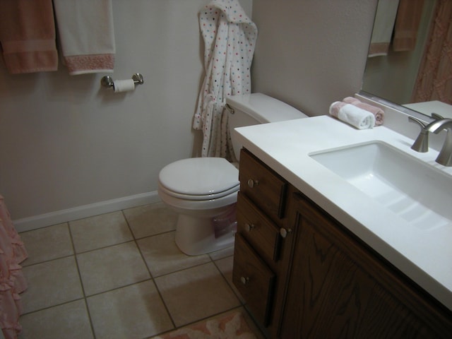
<svg viewBox="0 0 452 339"><path fill-rule="evenodd" d="M111 73L114 30L111 0L54 0L64 64L69 74Z"/></svg>

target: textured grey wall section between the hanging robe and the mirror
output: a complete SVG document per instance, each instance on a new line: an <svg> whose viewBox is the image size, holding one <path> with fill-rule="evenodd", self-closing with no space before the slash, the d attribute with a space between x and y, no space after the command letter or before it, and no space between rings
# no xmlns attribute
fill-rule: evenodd
<svg viewBox="0 0 452 339"><path fill-rule="evenodd" d="M308 115L361 89L376 0L258 0L255 92Z"/></svg>

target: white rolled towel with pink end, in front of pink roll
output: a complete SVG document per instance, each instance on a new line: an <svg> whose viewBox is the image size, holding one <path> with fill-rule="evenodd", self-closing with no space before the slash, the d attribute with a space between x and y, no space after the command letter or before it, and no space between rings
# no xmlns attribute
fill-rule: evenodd
<svg viewBox="0 0 452 339"><path fill-rule="evenodd" d="M372 129L375 126L374 114L346 102L333 102L330 106L330 114L357 129Z"/></svg>

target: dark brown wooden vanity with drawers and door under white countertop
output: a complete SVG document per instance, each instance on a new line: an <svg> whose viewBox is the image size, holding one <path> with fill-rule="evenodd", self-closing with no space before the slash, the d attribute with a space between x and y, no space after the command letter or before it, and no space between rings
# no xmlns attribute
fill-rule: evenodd
<svg viewBox="0 0 452 339"><path fill-rule="evenodd" d="M232 279L270 338L451 338L452 311L243 149Z"/></svg>

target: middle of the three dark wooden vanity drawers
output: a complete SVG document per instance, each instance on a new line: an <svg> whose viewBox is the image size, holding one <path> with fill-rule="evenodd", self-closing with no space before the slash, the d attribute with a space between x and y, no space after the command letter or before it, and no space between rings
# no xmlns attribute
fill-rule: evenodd
<svg viewBox="0 0 452 339"><path fill-rule="evenodd" d="M278 261L281 244L279 227L240 192L237 196L237 232L266 261Z"/></svg>

